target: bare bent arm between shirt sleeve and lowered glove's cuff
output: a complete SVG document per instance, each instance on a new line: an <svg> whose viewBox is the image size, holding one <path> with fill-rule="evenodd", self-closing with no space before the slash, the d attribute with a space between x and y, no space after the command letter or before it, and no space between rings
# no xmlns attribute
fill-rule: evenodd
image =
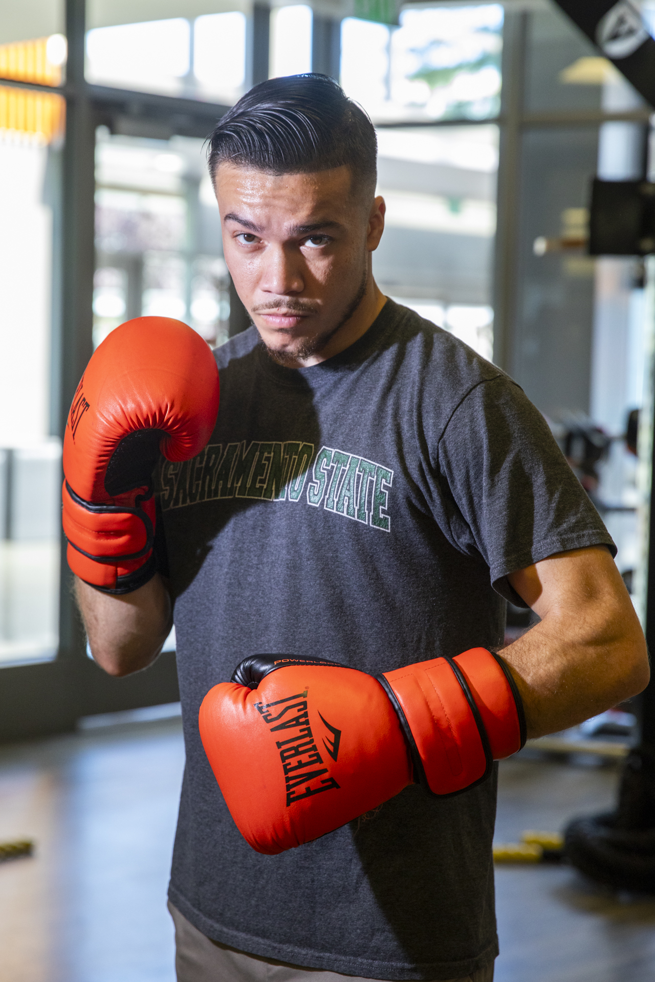
<svg viewBox="0 0 655 982"><path fill-rule="evenodd" d="M643 633L609 552L579 550L559 566L548 563L537 564L541 591L528 571L513 580L542 620L501 652L519 686L528 736L574 726L648 682ZM570 580L566 590L562 580Z"/></svg>

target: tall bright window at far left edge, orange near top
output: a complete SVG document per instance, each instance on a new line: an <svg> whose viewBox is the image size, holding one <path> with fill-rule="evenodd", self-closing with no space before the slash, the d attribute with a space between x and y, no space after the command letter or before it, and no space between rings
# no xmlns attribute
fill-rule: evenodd
<svg viewBox="0 0 655 982"><path fill-rule="evenodd" d="M0 75L63 80L63 11L0 13ZM35 33L36 32L36 33ZM61 443L54 419L55 240L65 104L0 85L0 664L53 657L59 620Z"/></svg>

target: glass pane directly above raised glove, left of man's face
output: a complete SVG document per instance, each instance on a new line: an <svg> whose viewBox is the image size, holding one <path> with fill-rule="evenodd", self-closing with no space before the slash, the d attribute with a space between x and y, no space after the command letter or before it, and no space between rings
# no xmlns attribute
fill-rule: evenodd
<svg viewBox="0 0 655 982"><path fill-rule="evenodd" d="M96 134L93 344L130 317L227 340L229 277L201 139Z"/></svg>

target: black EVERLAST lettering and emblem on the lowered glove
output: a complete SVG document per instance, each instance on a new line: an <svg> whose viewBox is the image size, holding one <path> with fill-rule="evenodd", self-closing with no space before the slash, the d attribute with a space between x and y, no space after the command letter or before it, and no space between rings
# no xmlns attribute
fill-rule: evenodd
<svg viewBox="0 0 655 982"><path fill-rule="evenodd" d="M278 709L279 706L282 708ZM312 794L320 794L321 791L339 788L334 778L323 777L328 773L328 768L318 766L323 764L323 758L309 726L306 689L304 692L288 695L285 699L278 699L276 702L256 702L255 709L264 723L274 724L270 729L272 734L285 736L283 739L276 740L275 745L280 751L280 760L287 783L287 805L311 797ZM323 739L323 744L332 759L336 760L339 754L341 730L331 727L320 713L318 715L332 734L332 738ZM293 731L296 732L292 734ZM290 736L286 736L288 733Z"/></svg>

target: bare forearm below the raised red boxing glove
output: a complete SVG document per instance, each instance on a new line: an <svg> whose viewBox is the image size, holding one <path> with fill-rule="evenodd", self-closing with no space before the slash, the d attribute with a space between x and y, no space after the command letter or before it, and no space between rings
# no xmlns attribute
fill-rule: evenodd
<svg viewBox="0 0 655 982"><path fill-rule="evenodd" d="M144 669L173 626L171 598L157 573L132 593L102 593L76 576L75 593L91 654L113 676Z"/></svg>

